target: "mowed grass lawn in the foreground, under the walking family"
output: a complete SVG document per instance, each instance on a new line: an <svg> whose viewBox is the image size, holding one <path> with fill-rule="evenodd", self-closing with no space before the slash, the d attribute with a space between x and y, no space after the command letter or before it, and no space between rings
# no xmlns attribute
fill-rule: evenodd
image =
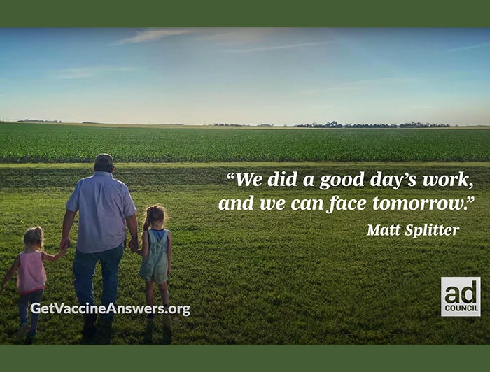
<svg viewBox="0 0 490 372"><path fill-rule="evenodd" d="M64 203L92 164L0 166L0 272L22 250L27 227L45 229L46 250L57 252ZM402 187L393 190L337 187L237 187L229 172L264 176L274 171L352 174L456 174L475 184L461 187ZM152 203L167 207L174 236L170 302L189 305L173 315L176 344L478 343L490 341L488 296L489 165L482 164L116 164L116 178L130 187L139 213ZM255 195L255 210L218 210L221 199ZM436 198L466 199L461 211L262 211L258 200ZM141 219L142 222L142 219ZM459 226L456 236L366 236L367 224L434 223ZM76 240L76 227L72 234ZM43 303L76 305L69 250L45 264ZM139 256L125 252L120 266L121 305L144 304ZM441 317L440 278L480 276L482 317ZM100 271L95 291L101 291ZM16 343L18 293L15 280L0 296L0 343ZM80 315L41 315L40 344L81 342ZM115 344L144 343L144 315L116 315ZM160 320L153 343L162 343Z"/></svg>

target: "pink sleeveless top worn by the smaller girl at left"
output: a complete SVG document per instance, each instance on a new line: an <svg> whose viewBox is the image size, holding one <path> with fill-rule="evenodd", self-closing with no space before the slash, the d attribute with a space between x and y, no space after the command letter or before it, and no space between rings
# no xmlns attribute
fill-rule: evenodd
<svg viewBox="0 0 490 372"><path fill-rule="evenodd" d="M20 265L17 276L17 288L20 294L26 294L44 289L46 272L41 252L24 253L20 255Z"/></svg>

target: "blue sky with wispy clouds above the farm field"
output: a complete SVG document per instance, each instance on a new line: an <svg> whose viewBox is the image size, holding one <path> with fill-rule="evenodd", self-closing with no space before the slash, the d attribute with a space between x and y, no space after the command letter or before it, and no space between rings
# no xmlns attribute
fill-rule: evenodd
<svg viewBox="0 0 490 372"><path fill-rule="evenodd" d="M0 28L0 120L490 124L490 29Z"/></svg>

